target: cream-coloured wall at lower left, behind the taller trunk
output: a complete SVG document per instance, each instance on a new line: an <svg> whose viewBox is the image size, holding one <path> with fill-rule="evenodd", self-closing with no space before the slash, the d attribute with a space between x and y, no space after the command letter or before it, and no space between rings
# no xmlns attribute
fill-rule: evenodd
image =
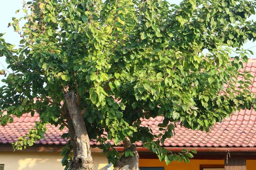
<svg viewBox="0 0 256 170"><path fill-rule="evenodd" d="M104 155L93 153L93 157L93 170L107 170L108 160ZM56 152L0 152L4 170L63 170L62 158Z"/></svg>

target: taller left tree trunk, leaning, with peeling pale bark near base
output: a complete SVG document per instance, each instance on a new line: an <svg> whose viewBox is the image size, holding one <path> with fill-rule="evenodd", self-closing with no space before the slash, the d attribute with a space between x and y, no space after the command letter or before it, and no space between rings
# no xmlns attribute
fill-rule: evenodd
<svg viewBox="0 0 256 170"><path fill-rule="evenodd" d="M93 170L93 156L90 152L90 139L84 124L84 118L76 102L76 95L73 91L65 96L67 103L67 122L70 133L71 146L74 151L74 158L69 165L70 170Z"/></svg>

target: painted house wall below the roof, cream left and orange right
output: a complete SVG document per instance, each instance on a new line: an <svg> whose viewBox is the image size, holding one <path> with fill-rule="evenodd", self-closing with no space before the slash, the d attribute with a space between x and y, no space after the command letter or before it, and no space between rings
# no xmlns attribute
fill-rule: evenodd
<svg viewBox="0 0 256 170"><path fill-rule="evenodd" d="M93 153L93 170L107 170L108 161L101 153ZM4 170L63 170L62 156L56 152L0 152ZM165 167L165 170L199 170L200 164L224 164L224 160L190 160L166 166L159 159L140 159L140 167ZM247 170L255 170L256 160L247 160ZM113 170L113 166L111 167Z"/></svg>

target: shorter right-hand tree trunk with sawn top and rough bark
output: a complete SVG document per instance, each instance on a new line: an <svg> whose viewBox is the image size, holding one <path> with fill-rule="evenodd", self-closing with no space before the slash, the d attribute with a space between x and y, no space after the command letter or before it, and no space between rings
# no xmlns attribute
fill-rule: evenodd
<svg viewBox="0 0 256 170"><path fill-rule="evenodd" d="M139 170L139 154L136 145L131 144L128 137L125 137L123 143L125 150L131 150L134 156L121 156L121 158L116 162L114 170Z"/></svg>

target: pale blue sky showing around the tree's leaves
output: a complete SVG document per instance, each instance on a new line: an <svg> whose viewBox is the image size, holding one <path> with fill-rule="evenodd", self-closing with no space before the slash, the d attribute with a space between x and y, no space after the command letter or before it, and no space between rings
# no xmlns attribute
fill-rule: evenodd
<svg viewBox="0 0 256 170"><path fill-rule="evenodd" d="M6 33L3 38L6 42L11 44L19 45L20 36L13 31L12 27L7 28L8 23L12 22L12 17L23 17L24 13L20 10L19 13L15 14L17 9L21 9L23 5L23 0L0 0L0 33ZM170 3L179 4L182 0L168 0ZM256 19L256 17L253 17ZM250 56L250 58L256 58L256 42L249 41L244 46L244 49L250 49L255 55ZM5 57L0 57L0 70L7 68L5 62ZM2 76L2 75L0 75ZM0 77L2 79L3 77ZM3 83L0 82L0 86Z"/></svg>

